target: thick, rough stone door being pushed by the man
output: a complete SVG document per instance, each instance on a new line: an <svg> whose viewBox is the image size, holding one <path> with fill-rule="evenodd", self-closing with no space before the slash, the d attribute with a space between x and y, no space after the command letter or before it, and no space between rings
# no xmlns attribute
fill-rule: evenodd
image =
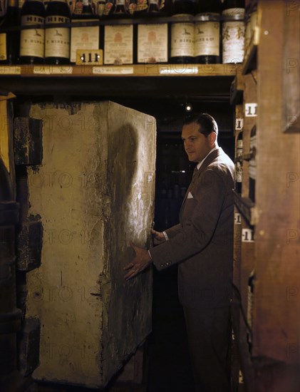
<svg viewBox="0 0 300 392"><path fill-rule="evenodd" d="M27 167L27 219L43 227L41 265L26 273L33 378L105 386L151 331L151 269L125 282L123 267L130 239L149 245L155 119L110 101L40 103L29 117L43 149Z"/></svg>

